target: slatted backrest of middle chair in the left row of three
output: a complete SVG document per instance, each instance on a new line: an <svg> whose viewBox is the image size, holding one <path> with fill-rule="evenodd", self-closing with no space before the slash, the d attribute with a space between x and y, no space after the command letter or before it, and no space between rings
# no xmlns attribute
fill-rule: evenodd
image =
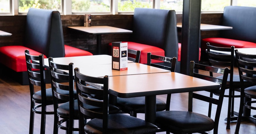
<svg viewBox="0 0 256 134"><path fill-rule="evenodd" d="M54 111L59 107L58 100L69 101L69 115L73 115L74 111L74 64L68 65L57 64L53 62L53 58L49 57L49 70L51 76L52 95ZM69 95L63 94L69 92ZM73 103L72 103L73 102ZM73 110L72 110L73 109Z"/></svg>

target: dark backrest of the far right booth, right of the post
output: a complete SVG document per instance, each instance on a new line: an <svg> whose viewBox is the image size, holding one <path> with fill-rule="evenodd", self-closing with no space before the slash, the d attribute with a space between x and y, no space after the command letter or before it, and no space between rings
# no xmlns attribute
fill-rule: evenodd
<svg viewBox="0 0 256 134"><path fill-rule="evenodd" d="M226 6L223 13L223 26L232 26L232 30L221 31L223 38L256 43L256 8Z"/></svg>

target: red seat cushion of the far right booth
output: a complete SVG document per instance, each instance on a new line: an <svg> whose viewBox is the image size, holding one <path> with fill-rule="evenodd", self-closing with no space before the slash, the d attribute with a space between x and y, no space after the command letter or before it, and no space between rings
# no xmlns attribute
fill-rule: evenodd
<svg viewBox="0 0 256 134"><path fill-rule="evenodd" d="M230 48L231 46L234 46L235 48L256 48L256 43L248 41L240 41L227 38L205 38L201 42L201 48L204 51L206 50L206 43L208 42L210 43L210 45L216 47Z"/></svg>

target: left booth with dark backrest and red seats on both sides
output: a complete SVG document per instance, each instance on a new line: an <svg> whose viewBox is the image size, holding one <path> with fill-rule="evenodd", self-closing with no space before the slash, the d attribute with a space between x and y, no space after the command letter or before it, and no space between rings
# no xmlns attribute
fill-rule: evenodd
<svg viewBox="0 0 256 134"><path fill-rule="evenodd" d="M10 77L20 84L28 84L25 50L31 55L44 57L88 56L92 53L64 45L60 12L30 8L27 13L25 39L18 46L0 47L2 74L11 69Z"/></svg>

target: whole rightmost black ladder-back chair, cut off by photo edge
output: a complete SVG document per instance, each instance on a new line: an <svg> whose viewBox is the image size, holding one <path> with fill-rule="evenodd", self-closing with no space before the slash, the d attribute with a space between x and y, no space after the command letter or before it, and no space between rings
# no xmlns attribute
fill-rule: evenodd
<svg viewBox="0 0 256 134"><path fill-rule="evenodd" d="M255 123L255 117L251 117L251 109L256 110L256 107L252 106L253 103L256 103L255 100L252 100L256 99L256 86L245 87L244 81L256 83L256 71L253 70L256 67L256 55L243 54L237 50L235 50L235 54L241 83L240 106L235 131L235 134L238 134L242 119Z"/></svg>

